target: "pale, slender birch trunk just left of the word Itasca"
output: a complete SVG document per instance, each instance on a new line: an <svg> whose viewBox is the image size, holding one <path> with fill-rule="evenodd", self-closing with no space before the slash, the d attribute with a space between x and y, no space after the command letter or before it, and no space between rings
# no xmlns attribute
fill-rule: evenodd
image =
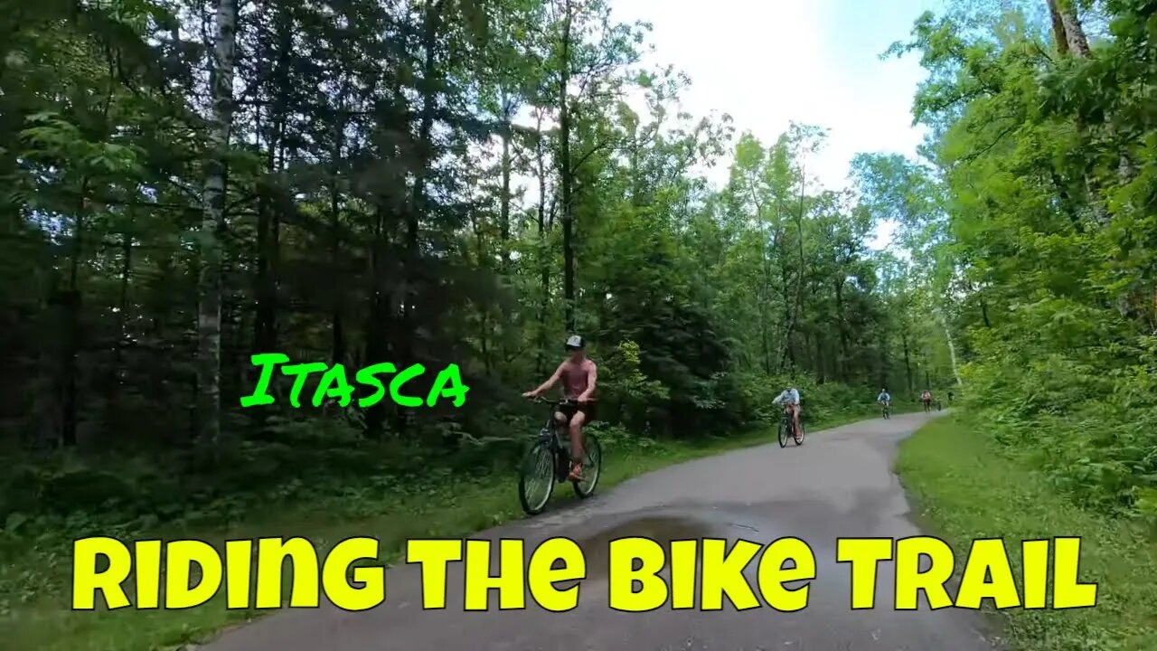
<svg viewBox="0 0 1157 651"><path fill-rule="evenodd" d="M233 126L234 52L237 1L219 0L213 47L209 153L205 161L201 219L201 265L198 278L200 306L197 319L197 418L204 442L219 442L221 434L221 242L224 228L224 176Z"/></svg>

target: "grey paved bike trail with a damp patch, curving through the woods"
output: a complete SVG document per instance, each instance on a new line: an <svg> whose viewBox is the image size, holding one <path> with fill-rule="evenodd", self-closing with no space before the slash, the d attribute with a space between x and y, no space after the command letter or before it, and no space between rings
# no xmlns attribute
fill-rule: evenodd
<svg viewBox="0 0 1157 651"><path fill-rule="evenodd" d="M942 412L943 414L943 412ZM941 415L942 415L941 414ZM420 572L386 573L386 600L346 613L332 606L286 610L234 629L204 646L212 651L977 651L996 646L975 612L892 609L891 563L879 564L877 607L852 610L849 568L835 563L838 537L905 537L920 533L892 459L897 444L937 414L896 415L809 433L801 447L771 442L699 459L635 477L578 504L482 532L474 537L537 541L567 536L587 556L578 606L548 613L528 598L524 610L463 609L460 563L449 566L448 607L422 610ZM569 487L559 489L569 491ZM511 499L516 499L511 492ZM373 533L367 532L367 535ZM751 540L797 536L811 546L817 578L805 609L761 607L718 612L620 613L607 606L610 540L642 535L665 542L688 537ZM496 547L496 546L495 546ZM758 558L757 558L758 561ZM749 570L754 573L757 562ZM752 585L756 581L752 577ZM790 586L789 587L794 587ZM758 590L757 590L758 594Z"/></svg>

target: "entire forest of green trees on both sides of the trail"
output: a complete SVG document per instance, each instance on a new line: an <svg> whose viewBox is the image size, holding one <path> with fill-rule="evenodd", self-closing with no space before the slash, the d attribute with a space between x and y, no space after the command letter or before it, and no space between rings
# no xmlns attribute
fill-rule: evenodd
<svg viewBox="0 0 1157 651"><path fill-rule="evenodd" d="M809 174L821 126L687 115L598 0L13 8L6 535L509 469L569 332L610 441L765 423L787 383L811 417L952 388L1078 503L1157 513L1152 2L921 16L890 50L928 71L921 155L861 154L839 191ZM470 390L242 409L264 352Z"/></svg>

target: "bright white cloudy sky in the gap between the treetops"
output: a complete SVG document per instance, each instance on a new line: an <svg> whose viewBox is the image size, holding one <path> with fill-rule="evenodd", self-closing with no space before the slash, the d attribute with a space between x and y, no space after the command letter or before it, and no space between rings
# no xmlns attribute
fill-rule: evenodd
<svg viewBox="0 0 1157 651"><path fill-rule="evenodd" d="M924 73L918 56L880 60L907 39L937 0L609 0L617 21L651 23L643 64L673 65L691 76L683 110L730 114L736 132L771 144L791 120L828 130L806 163L820 185L847 186L860 152L914 155L923 130L912 98ZM727 166L709 175L722 183ZM891 237L885 225L876 247Z"/></svg>

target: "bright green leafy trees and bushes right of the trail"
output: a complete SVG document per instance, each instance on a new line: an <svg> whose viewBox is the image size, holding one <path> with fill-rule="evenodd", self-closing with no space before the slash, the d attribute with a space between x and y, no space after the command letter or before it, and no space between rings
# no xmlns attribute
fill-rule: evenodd
<svg viewBox="0 0 1157 651"><path fill-rule="evenodd" d="M915 105L936 182L911 182L919 166L897 160L864 161L861 176L867 203L934 235L908 246L945 303L935 313L961 344L985 432L1077 504L1151 517L1151 7L1103 3L1107 32L1092 38L1088 3L1042 6L960 1L921 17L893 52L921 52L929 71ZM1088 56L1073 45L1085 39Z"/></svg>

